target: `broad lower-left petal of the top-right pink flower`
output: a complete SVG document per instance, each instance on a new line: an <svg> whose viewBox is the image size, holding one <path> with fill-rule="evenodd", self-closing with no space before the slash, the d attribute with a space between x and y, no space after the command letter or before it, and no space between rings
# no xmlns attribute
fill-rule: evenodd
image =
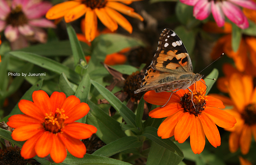
<svg viewBox="0 0 256 165"><path fill-rule="evenodd" d="M211 13L211 3L208 0L199 0L194 6L193 15L196 19L204 20Z"/></svg>

